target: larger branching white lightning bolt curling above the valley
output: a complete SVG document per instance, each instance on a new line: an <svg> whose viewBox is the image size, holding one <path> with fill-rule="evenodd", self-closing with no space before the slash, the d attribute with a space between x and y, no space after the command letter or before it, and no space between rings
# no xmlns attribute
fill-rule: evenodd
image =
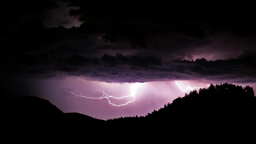
<svg viewBox="0 0 256 144"><path fill-rule="evenodd" d="M131 85L131 95L123 96L123 97L119 97L119 98L113 97L113 96L109 95L109 94L106 92L106 90L104 91L104 90L102 90L102 89L100 89L100 88L96 88L95 91L93 91L94 93L97 92L97 93L102 94L102 96L101 96L100 98L86 97L86 96L82 95L81 92L79 92L80 95L76 95L76 93L71 92L71 91L69 91L69 90L65 90L65 91L63 91L63 92L70 92L70 93L74 94L75 96L83 97L83 98L87 98L87 99L107 99L108 102L109 102L109 104L111 104L111 105L113 105L113 106L120 107L120 106L127 105L128 103L131 103L132 101L135 100L135 93L136 93L136 90L137 90L137 88L138 88L141 84L142 84L142 83L133 83L133 84ZM133 99L130 100L130 101L128 101L128 102L126 102L126 103L124 103L124 104L121 104L121 105L113 104L113 103L111 103L111 101L109 100L109 98L113 98L113 99L123 99L123 98L128 98L128 97L133 97Z"/></svg>

